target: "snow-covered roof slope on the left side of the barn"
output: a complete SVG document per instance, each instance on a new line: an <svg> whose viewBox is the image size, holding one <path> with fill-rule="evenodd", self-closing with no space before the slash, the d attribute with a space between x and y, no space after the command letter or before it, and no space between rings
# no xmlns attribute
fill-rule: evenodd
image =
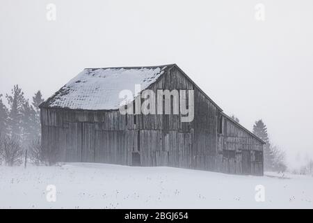
<svg viewBox="0 0 313 223"><path fill-rule="evenodd" d="M136 84L140 84L143 91L156 82L171 66L86 68L44 102L42 107L118 109L123 100L119 98L120 91L130 90L134 95Z"/></svg>

